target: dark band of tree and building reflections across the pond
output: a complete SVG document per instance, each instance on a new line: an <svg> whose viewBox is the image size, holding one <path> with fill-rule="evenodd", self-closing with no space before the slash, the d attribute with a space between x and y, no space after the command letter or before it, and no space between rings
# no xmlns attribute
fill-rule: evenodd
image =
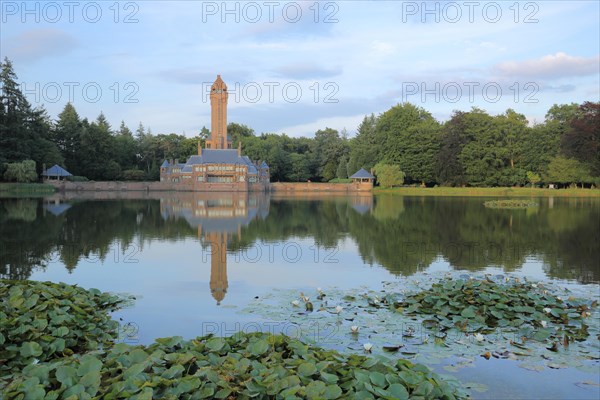
<svg viewBox="0 0 600 400"><path fill-rule="evenodd" d="M548 277L600 281L598 199L539 199L534 209L490 210L482 198L86 195L104 198L1 199L0 276L27 279L52 262L73 271L83 259L103 262L115 246L143 249L155 241L168 245L198 238L212 256L210 287L217 302L229 288L228 252L231 257L261 243L297 239L325 249L351 243L345 251L354 263L382 266L392 274L440 264L515 271L533 262Z"/></svg>

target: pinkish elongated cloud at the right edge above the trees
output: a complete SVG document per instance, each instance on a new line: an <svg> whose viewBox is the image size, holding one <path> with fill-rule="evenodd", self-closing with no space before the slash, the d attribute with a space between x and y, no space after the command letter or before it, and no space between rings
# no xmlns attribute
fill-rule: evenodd
<svg viewBox="0 0 600 400"><path fill-rule="evenodd" d="M597 74L600 56L584 58L559 52L536 60L497 64L494 72L506 77L558 79Z"/></svg>

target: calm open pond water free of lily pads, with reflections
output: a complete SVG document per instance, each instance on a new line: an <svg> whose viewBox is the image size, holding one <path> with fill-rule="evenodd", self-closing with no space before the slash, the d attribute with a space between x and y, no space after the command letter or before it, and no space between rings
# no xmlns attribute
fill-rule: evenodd
<svg viewBox="0 0 600 400"><path fill-rule="evenodd" d="M133 294L134 306L115 314L129 324L122 340L132 343L261 329L265 321L239 310L275 288L376 289L400 276L447 270L575 286L600 281L598 199L493 210L483 198L455 197L87 196L106 198L0 199L0 277ZM468 380L502 382L502 374L485 368ZM514 382L550 379L540 381L543 397L598 394L594 386L573 386L598 381L577 371L549 378L510 363L502 371Z"/></svg>

